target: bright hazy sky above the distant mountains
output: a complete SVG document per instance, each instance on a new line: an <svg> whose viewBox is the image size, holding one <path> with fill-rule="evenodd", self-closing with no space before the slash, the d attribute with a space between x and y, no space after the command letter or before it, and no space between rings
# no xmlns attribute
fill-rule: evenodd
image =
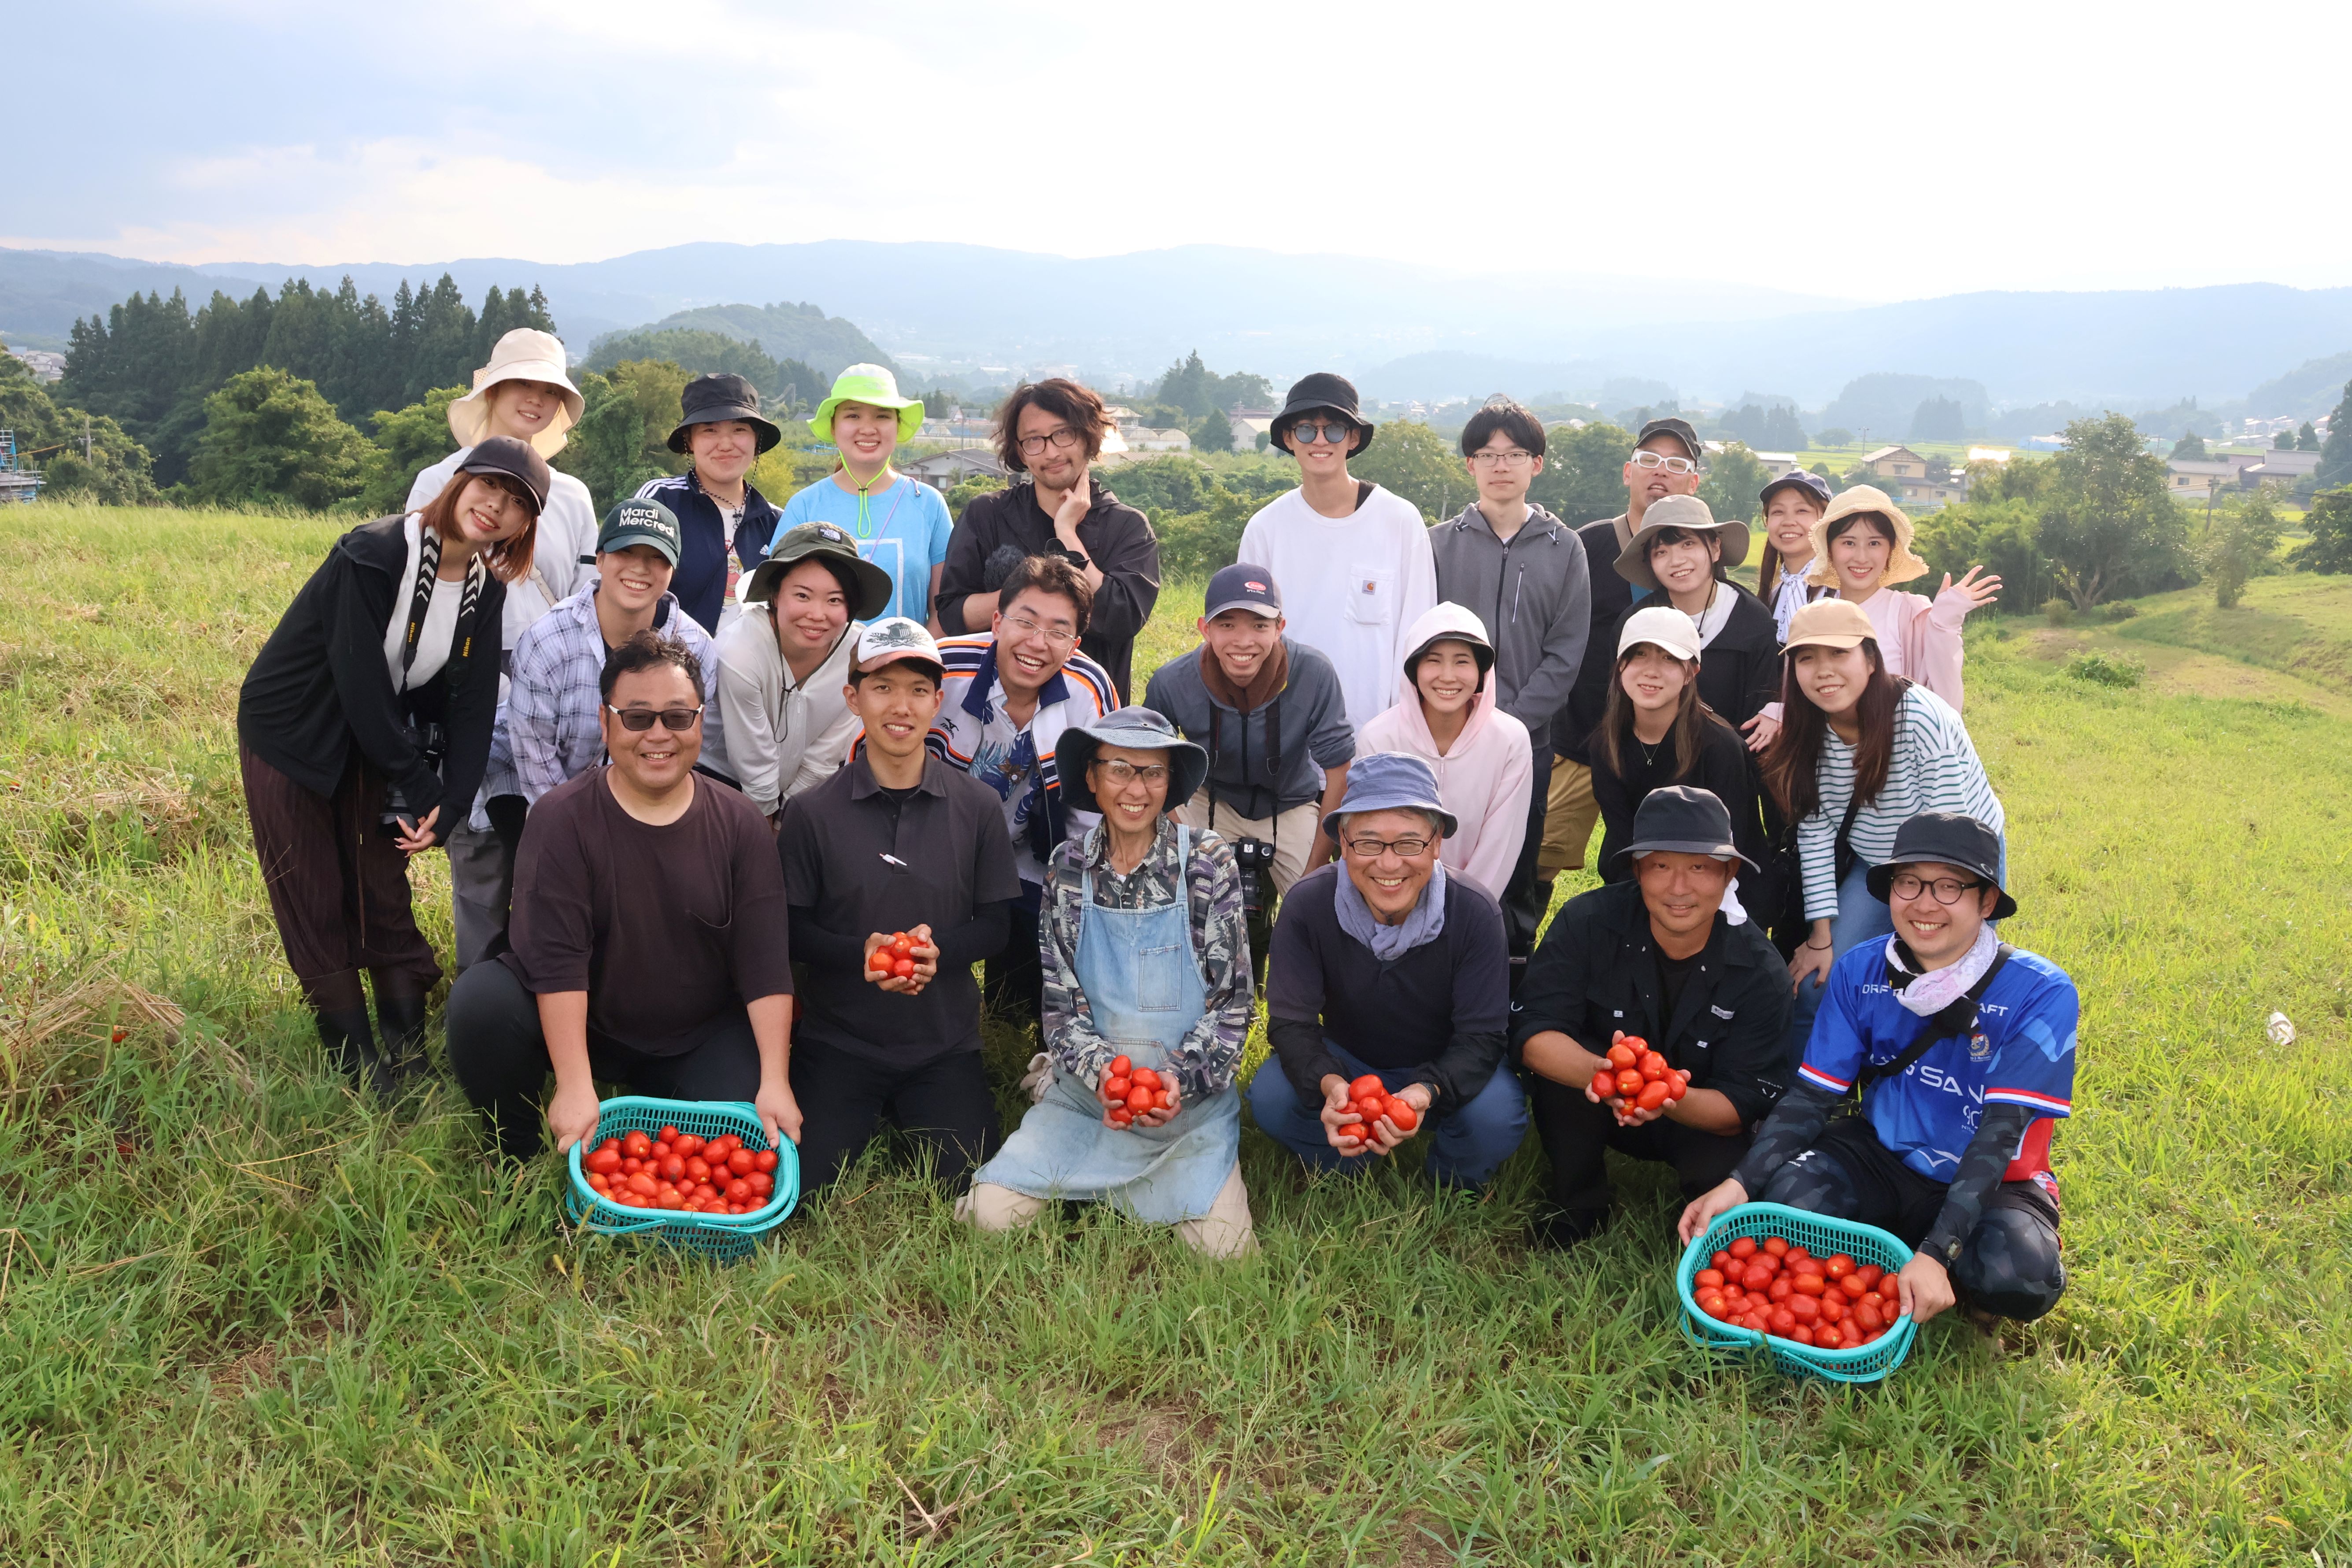
<svg viewBox="0 0 2352 1568"><path fill-rule="evenodd" d="M2352 284L2324 75L2352 7L2310 0L87 0L0 26L9 247L1256 244L1851 301Z"/></svg>

